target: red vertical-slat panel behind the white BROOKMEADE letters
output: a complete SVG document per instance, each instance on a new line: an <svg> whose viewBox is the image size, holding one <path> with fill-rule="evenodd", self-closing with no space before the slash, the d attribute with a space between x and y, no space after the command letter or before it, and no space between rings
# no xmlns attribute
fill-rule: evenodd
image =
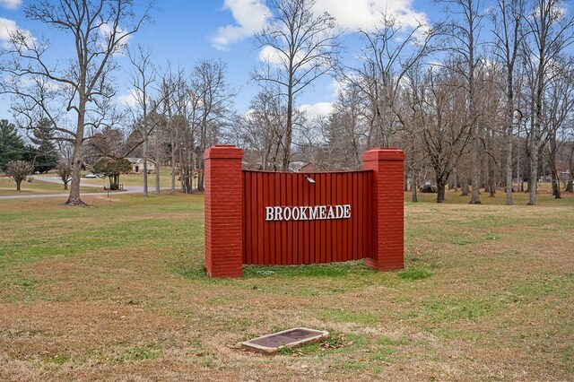
<svg viewBox="0 0 574 382"><path fill-rule="evenodd" d="M244 171L243 182L244 264L328 263L372 255L371 171ZM284 212L284 207L337 204L351 205L350 219L265 221L265 207Z"/></svg>

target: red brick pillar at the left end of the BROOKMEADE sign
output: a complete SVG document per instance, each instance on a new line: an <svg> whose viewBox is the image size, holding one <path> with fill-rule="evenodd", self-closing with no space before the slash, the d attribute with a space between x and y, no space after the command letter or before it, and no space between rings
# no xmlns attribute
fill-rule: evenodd
<svg viewBox="0 0 574 382"><path fill-rule="evenodd" d="M243 151L215 145L205 161L205 267L210 277L241 277Z"/></svg>

